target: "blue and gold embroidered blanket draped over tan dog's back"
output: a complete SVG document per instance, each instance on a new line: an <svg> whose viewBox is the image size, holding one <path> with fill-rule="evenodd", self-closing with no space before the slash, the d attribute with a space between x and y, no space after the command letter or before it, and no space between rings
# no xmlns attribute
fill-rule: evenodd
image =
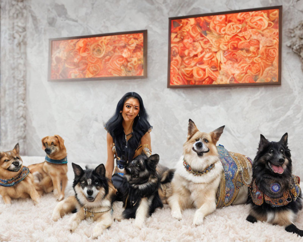
<svg viewBox="0 0 303 242"><path fill-rule="evenodd" d="M224 170L217 190L217 208L222 208L235 201L243 185L250 186L252 160L246 155L229 152L222 145L217 146L217 151Z"/></svg>

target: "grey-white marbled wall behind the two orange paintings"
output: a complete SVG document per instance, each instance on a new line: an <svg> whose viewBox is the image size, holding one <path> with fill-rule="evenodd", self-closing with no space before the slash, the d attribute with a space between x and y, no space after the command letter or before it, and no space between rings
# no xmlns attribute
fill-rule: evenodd
<svg viewBox="0 0 303 242"><path fill-rule="evenodd" d="M219 141L250 156L260 133L278 141L288 132L294 173L303 176L302 70L286 47L288 28L303 19L302 1L275 0L28 0L27 136L25 153L44 155L41 138L59 134L71 162L105 162L103 124L128 91L138 92L150 114L153 153L174 166L191 118L201 131L225 125ZM167 89L168 18L283 5L282 79L277 87ZM148 78L48 82L48 39L148 30Z"/></svg>

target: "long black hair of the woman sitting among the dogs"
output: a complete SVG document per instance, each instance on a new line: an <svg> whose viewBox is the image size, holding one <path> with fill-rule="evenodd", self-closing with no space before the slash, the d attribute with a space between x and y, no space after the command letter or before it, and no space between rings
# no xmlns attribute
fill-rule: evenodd
<svg viewBox="0 0 303 242"><path fill-rule="evenodd" d="M125 134L122 126L122 113L120 111L123 110L124 103L129 98L136 98L139 101L139 116L135 117L133 126L132 126L132 137L127 142L125 140ZM126 93L122 98L119 100L116 111L114 115L106 122L105 129L109 132L112 136L113 141L115 143L115 149L117 152L118 157L122 159L126 159L126 161L131 161L133 156L135 155L135 151L139 146L141 138L151 125L148 123L148 114L145 111L143 100L138 93L129 92Z"/></svg>

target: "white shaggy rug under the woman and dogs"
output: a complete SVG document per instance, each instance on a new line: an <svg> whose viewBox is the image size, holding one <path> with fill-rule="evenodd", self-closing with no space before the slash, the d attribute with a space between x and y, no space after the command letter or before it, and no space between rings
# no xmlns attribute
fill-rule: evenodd
<svg viewBox="0 0 303 242"><path fill-rule="evenodd" d="M43 157L22 159L25 165L44 160ZM68 163L68 168L69 181L65 194L72 195L74 175L71 163ZM191 226L194 209L185 210L182 220L178 221L171 217L168 205L164 205L146 219L142 230L134 226L134 219L115 221L98 239L93 240L90 238L93 228L90 220L82 221L74 233L69 231L71 214L57 222L51 220L57 204L52 193L43 195L38 205L30 199L18 199L13 200L11 206L6 206L0 199L0 241L303 241L303 238L286 232L283 227L245 221L248 205L217 209L205 217L204 224L198 227ZM114 209L114 213L122 212L122 203L115 202ZM303 229L302 215L301 211L295 223L300 229Z"/></svg>

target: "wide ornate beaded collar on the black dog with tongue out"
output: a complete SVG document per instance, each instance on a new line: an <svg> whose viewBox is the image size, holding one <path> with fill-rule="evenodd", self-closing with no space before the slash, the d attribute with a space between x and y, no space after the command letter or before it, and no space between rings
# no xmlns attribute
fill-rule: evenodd
<svg viewBox="0 0 303 242"><path fill-rule="evenodd" d="M281 206L285 206L288 203L290 203L292 200L296 201L296 199L298 198L298 196L301 193L301 188L299 186L299 177L292 175L292 179L293 179L293 187L290 190L286 190L283 193L283 196L280 198L271 198L268 195L264 194L256 185L256 181L255 179L253 180L253 182L251 183L251 189L250 189L250 194L251 194L251 198L252 201L254 202L254 204L256 205L262 205L263 202L265 201L267 204L269 204L271 207L281 207ZM272 189L272 187L275 186L275 183L271 184L270 189ZM281 187L279 187L279 191L281 190ZM278 189L278 188L274 188L274 189ZM278 192L278 191L276 191Z"/></svg>

